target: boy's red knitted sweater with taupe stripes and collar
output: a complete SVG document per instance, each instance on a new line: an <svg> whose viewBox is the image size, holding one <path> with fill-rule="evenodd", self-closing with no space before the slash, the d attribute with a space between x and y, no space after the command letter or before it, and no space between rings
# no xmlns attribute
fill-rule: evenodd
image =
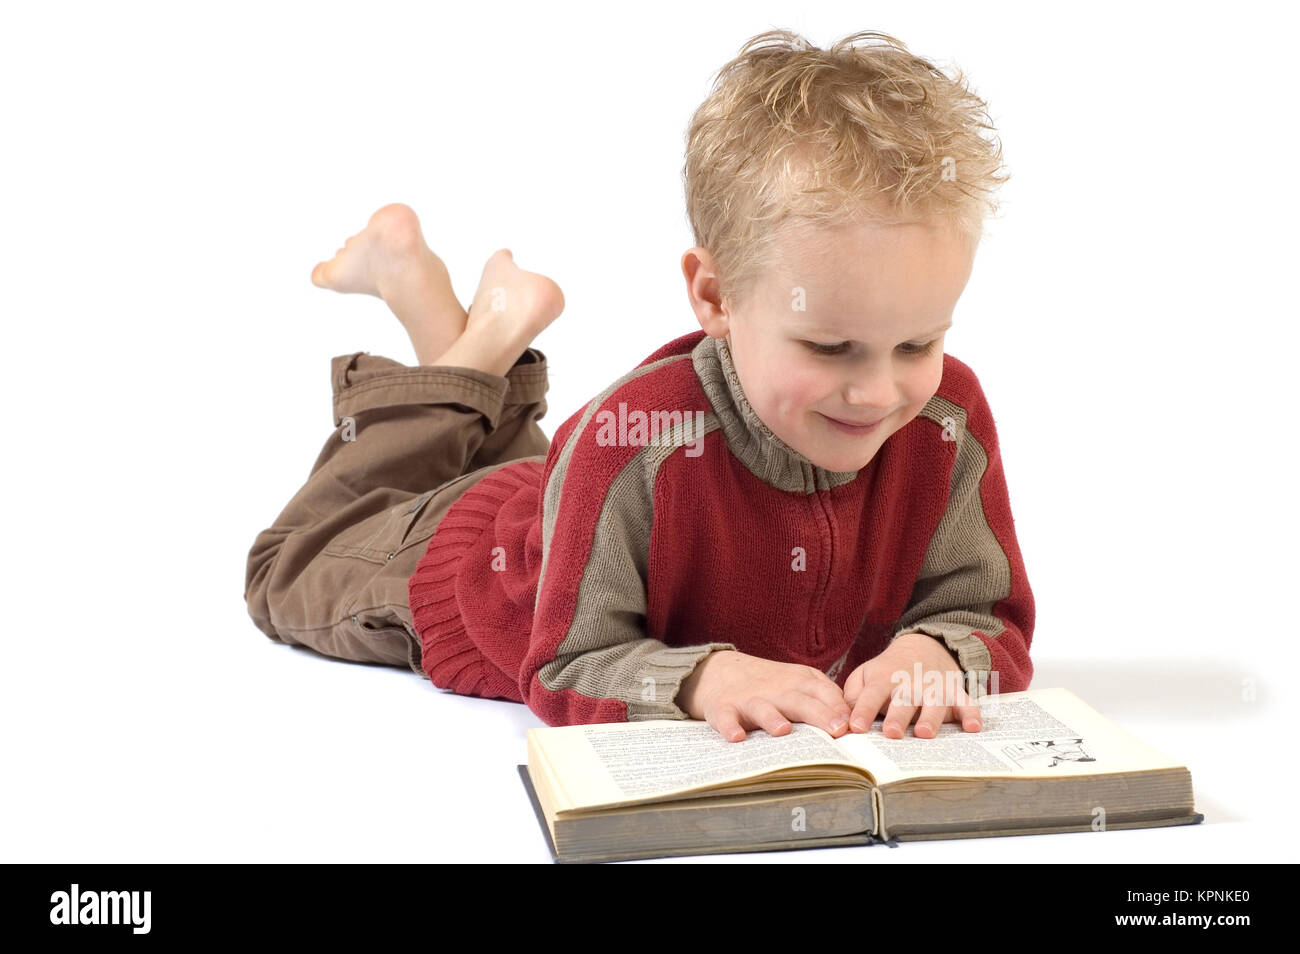
<svg viewBox="0 0 1300 954"><path fill-rule="evenodd" d="M524 702L547 725L686 719L710 652L844 685L904 633L985 691L1032 675L1034 595L997 433L968 367L861 471L777 438L725 339L682 335L448 509L410 581L436 686ZM989 673L996 672L996 681Z"/></svg>

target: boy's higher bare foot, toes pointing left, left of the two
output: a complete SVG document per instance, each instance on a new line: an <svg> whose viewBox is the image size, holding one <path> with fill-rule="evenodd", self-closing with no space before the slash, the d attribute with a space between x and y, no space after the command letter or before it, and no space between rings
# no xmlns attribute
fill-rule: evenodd
<svg viewBox="0 0 1300 954"><path fill-rule="evenodd" d="M312 285L374 295L398 316L420 364L432 364L465 329L447 266L425 244L408 205L385 205L333 259L312 269Z"/></svg>

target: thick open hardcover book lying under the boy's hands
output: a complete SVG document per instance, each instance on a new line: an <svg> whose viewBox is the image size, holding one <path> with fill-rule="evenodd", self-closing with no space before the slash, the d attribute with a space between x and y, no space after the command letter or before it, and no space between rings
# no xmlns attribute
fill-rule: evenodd
<svg viewBox="0 0 1300 954"><path fill-rule="evenodd" d="M520 776L556 862L978 838L1202 820L1192 776L1067 689L980 699L983 729L832 738L796 723L728 742L708 723L528 730Z"/></svg>

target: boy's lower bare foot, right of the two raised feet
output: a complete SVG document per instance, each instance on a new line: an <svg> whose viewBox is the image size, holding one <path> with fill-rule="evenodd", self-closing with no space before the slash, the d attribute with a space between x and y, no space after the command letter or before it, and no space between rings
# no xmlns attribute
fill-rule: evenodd
<svg viewBox="0 0 1300 954"><path fill-rule="evenodd" d="M499 248L484 265L464 333L436 364L504 376L563 311L560 286L524 272L508 248Z"/></svg>

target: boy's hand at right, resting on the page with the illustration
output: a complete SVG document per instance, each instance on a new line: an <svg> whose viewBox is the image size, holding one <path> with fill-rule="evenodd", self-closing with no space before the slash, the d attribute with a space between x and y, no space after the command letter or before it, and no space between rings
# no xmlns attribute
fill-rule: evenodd
<svg viewBox="0 0 1300 954"><path fill-rule="evenodd" d="M922 669L919 686L914 685L916 663ZM939 675L928 675L932 672ZM902 738L918 707L920 719L913 729L916 738L933 738L942 723L959 721L966 732L979 732L983 728L979 706L961 688L965 678L954 680L948 675L950 672L963 671L942 642L924 633L900 636L884 652L864 662L845 680L844 698L853 706L849 728L871 732L876 715L888 703L889 711L881 727L887 738ZM944 698L949 688L956 691L952 698Z"/></svg>

